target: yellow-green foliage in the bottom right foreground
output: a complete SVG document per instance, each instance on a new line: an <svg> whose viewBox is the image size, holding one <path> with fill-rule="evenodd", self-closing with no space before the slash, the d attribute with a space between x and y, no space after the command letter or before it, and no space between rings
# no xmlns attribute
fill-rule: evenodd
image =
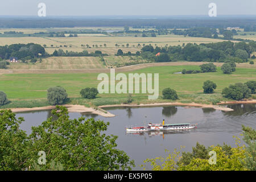
<svg viewBox="0 0 256 182"><path fill-rule="evenodd" d="M249 127L242 126L243 140L247 144L239 146L240 139L236 140L236 147L232 148L227 144L222 146L205 146L197 143L192 152L174 150L168 152L168 156L144 160L143 167L150 163L154 171L243 171L256 169L256 131ZM182 147L181 147L182 148ZM216 152L216 164L210 163L210 151Z"/></svg>

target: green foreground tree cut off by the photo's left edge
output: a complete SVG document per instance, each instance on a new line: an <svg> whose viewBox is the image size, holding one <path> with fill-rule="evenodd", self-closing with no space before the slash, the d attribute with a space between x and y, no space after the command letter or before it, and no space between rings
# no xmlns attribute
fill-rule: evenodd
<svg viewBox="0 0 256 182"><path fill-rule="evenodd" d="M16 119L11 110L0 110L0 171L26 169L27 134L19 129L23 121L23 118Z"/></svg>

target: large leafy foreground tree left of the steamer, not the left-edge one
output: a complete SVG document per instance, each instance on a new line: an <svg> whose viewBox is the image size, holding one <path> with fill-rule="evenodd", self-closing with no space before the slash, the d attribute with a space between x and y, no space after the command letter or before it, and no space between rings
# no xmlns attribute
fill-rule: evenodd
<svg viewBox="0 0 256 182"><path fill-rule="evenodd" d="M38 158L39 150L46 151L47 160L60 162L65 170L125 170L131 169L134 162L121 150L118 150L116 136L108 136L104 131L109 122L69 119L68 110L57 106L60 113L53 110L58 119L52 117L38 127L32 127L30 138L33 142L30 161ZM43 169L49 168L47 163Z"/></svg>

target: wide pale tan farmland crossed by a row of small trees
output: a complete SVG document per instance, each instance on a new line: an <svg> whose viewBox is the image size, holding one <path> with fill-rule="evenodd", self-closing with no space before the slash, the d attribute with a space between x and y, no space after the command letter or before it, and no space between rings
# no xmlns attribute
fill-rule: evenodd
<svg viewBox="0 0 256 182"><path fill-rule="evenodd" d="M55 49L63 49L64 51L76 51L81 52L86 49L88 52L94 52L96 50L102 51L102 53L108 53L114 55L117 50L121 48L124 52L135 53L139 51L143 44L152 46L177 46L187 43L212 43L222 42L220 39L209 38L191 38L180 35L167 35L157 37L134 37L134 36L100 36L100 35L78 35L78 37L65 37L65 38L42 38L42 37L22 37L22 38L0 38L0 46L16 44L16 43L36 43L40 45L46 45L46 51L53 53ZM88 44L91 48L82 48L81 45ZM104 46L106 44L106 46ZM129 47L126 46L129 44ZM139 44L139 46L138 46ZM64 47L65 46L65 47Z"/></svg>

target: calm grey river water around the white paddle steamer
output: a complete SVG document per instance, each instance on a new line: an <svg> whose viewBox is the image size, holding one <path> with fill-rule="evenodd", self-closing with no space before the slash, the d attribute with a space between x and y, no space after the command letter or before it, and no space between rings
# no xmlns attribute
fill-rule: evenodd
<svg viewBox="0 0 256 182"><path fill-rule="evenodd" d="M240 104L229 105L234 111L220 111L214 109L202 109L197 107L158 106L158 107L111 107L105 108L115 117L105 118L96 114L70 113L71 118L81 115L87 118L101 119L110 122L106 134L117 135L117 144L135 160L134 169L139 167L143 160L166 156L165 149L174 151L175 148L185 146L183 151L192 151L196 142L211 146L224 142L235 147L233 136L240 137L242 126L250 126L256 129L256 105ZM38 126L51 116L51 111L33 111L17 113L17 117L24 117L25 122L21 129L31 133L31 126ZM197 123L197 128L183 133L150 132L144 134L126 133L126 126L144 126L144 123L159 123L165 119L165 123Z"/></svg>

